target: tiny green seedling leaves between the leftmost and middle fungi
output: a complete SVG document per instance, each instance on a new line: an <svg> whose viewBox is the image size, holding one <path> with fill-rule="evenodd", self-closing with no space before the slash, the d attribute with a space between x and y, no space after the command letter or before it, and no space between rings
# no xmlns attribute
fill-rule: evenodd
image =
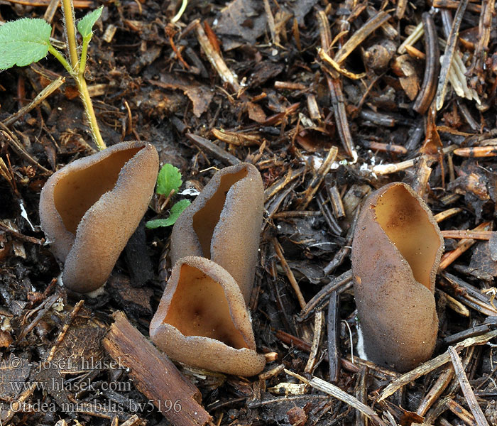
<svg viewBox="0 0 497 426"><path fill-rule="evenodd" d="M159 174L157 176L157 187L155 192L158 195L162 195L165 198L164 204L174 197L175 194L178 193L180 186L183 181L181 178L181 173L178 168L175 168L172 164L165 164L160 169ZM155 229L161 226L171 226L174 225L175 222L180 217L180 214L190 205L190 200L180 200L176 202L173 207L171 207L169 217L166 219L154 219L149 220L145 226L148 229Z"/></svg>

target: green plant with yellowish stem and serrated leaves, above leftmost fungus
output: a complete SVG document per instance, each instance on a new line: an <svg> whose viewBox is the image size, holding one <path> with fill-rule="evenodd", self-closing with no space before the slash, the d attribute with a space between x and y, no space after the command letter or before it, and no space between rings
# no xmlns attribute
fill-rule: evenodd
<svg viewBox="0 0 497 426"><path fill-rule="evenodd" d="M84 80L84 70L87 63L89 41L92 39L94 24L102 14L104 6L99 7L79 21L77 31L82 35L81 58L78 55L78 45L75 33L75 17L72 0L62 0L64 11L65 36L67 41L68 62L62 52L50 43L52 27L40 18L22 18L17 21L4 23L0 26L0 71L17 65L23 67L45 58L50 52L63 65L65 70L75 80L77 89L84 105L92 136L99 149L106 148L97 124L93 110L92 99L89 97L87 82Z"/></svg>

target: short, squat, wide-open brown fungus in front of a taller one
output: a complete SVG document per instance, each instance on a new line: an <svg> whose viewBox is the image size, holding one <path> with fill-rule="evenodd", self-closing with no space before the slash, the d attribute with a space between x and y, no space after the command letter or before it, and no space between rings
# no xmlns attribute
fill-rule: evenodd
<svg viewBox="0 0 497 426"><path fill-rule="evenodd" d="M266 364L256 352L239 286L207 258L188 256L175 263L150 335L168 356L190 366L253 376Z"/></svg>

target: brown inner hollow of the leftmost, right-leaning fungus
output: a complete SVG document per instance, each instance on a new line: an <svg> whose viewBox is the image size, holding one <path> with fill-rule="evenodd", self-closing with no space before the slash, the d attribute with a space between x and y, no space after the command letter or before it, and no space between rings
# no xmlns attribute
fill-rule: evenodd
<svg viewBox="0 0 497 426"><path fill-rule="evenodd" d="M104 160L61 178L53 191L55 208L67 231L76 234L84 213L114 188L124 164L143 147L116 151Z"/></svg>

